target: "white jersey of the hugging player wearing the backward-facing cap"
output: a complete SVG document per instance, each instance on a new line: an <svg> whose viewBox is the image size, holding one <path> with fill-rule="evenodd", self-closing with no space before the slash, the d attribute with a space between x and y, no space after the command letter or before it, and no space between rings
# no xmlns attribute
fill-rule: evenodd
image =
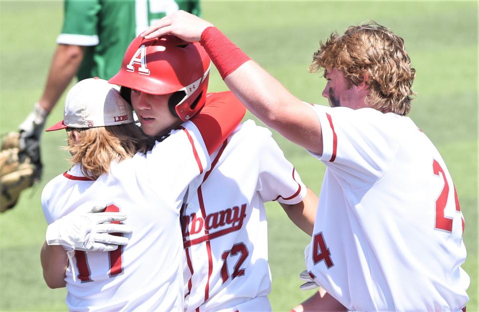
<svg viewBox="0 0 479 312"><path fill-rule="evenodd" d="M75 165L45 186L48 223L103 204L125 213L133 229L116 251L75 252L65 278L71 311L183 311L180 208L188 185L197 188L210 167L200 132L191 121L183 125L147 154L112 163L96 181Z"/></svg>

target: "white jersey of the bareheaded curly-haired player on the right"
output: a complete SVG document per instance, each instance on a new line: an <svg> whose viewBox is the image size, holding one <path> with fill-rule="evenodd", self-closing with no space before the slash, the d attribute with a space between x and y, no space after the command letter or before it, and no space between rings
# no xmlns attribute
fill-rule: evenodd
<svg viewBox="0 0 479 312"><path fill-rule="evenodd" d="M351 311L458 312L464 219L441 155L409 117L314 107L325 165L307 268Z"/></svg>

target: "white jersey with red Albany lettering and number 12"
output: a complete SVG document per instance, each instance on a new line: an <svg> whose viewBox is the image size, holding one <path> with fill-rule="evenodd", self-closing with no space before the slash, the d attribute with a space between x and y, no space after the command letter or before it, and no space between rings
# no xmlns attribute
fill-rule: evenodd
<svg viewBox="0 0 479 312"><path fill-rule="evenodd" d="M263 202L299 203L306 187L271 132L252 120L211 157L182 214L185 311L270 311Z"/></svg>

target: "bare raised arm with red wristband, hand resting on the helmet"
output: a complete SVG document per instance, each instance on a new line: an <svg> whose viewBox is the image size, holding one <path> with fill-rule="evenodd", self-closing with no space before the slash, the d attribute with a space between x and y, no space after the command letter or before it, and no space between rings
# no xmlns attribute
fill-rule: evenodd
<svg viewBox="0 0 479 312"><path fill-rule="evenodd" d="M178 11L142 35L150 39L168 33L200 41L228 87L254 115L290 141L322 154L321 124L312 107L289 93L211 23Z"/></svg>

